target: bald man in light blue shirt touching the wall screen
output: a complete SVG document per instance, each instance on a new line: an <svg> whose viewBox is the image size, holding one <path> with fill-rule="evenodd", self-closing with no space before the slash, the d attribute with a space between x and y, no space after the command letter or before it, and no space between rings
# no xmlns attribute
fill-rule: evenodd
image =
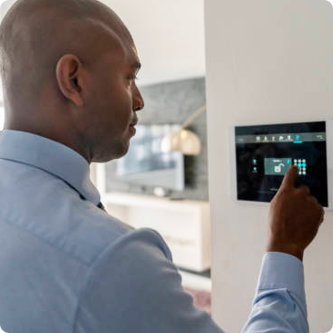
<svg viewBox="0 0 333 333"><path fill-rule="evenodd" d="M0 331L221 333L161 236L109 216L89 181L92 161L128 151L143 108L120 18L94 0L19 0L0 51ZM271 205L246 332L307 331L301 260L323 210L296 178Z"/></svg>

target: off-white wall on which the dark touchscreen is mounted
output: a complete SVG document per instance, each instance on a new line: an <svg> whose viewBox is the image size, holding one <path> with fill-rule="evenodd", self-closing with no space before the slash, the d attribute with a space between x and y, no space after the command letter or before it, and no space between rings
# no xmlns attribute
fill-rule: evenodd
<svg viewBox="0 0 333 333"><path fill-rule="evenodd" d="M206 0L213 317L239 332L265 251L267 209L233 203L227 130L234 123L333 117L333 2ZM312 332L333 331L333 213L305 255Z"/></svg>

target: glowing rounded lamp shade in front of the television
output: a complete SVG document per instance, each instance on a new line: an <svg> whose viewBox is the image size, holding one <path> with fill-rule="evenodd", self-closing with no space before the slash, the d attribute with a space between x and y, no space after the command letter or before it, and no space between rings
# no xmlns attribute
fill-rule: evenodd
<svg viewBox="0 0 333 333"><path fill-rule="evenodd" d="M181 151L184 155L199 155L200 138L191 130L179 130L166 134L161 140L161 151Z"/></svg>

